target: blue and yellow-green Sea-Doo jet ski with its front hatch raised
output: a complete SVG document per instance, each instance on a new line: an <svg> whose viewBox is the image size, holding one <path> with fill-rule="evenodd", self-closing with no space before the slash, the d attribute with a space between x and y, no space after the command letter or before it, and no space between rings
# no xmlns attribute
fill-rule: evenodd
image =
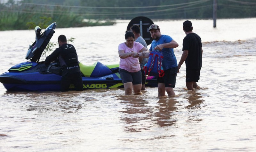
<svg viewBox="0 0 256 152"><path fill-rule="evenodd" d="M56 23L49 25L41 34L36 27L36 41L29 45L27 62L12 66L8 72L0 75L0 82L8 91L60 91L61 67L59 63L45 65L39 59L50 42ZM104 65L96 62L93 65L79 63L84 89L124 87L118 73L119 64ZM156 87L156 78L148 76L146 86ZM74 85L69 86L70 90Z"/></svg>

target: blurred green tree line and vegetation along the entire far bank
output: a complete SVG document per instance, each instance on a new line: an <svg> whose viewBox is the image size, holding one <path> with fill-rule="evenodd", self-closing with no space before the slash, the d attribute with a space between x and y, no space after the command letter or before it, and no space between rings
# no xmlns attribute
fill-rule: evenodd
<svg viewBox="0 0 256 152"><path fill-rule="evenodd" d="M217 3L217 18L256 17L255 0L218 0ZM209 19L212 12L213 0L9 0L0 3L0 30L28 29L28 22L39 24L46 18L49 24L57 22L58 27L82 27L111 25L116 19L130 20L137 16Z"/></svg>

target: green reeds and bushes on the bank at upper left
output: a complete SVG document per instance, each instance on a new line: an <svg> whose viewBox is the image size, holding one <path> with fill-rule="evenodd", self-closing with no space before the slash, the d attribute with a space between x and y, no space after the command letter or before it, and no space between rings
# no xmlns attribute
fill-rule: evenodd
<svg viewBox="0 0 256 152"><path fill-rule="evenodd" d="M42 0L40 3L44 3L46 1L47 0ZM40 26L42 29L45 29L47 25L52 22L56 22L58 24L58 28L115 24L113 21L107 21L104 23L83 22L85 18L84 15L75 13L72 7L63 7L60 6L59 3L54 6L38 6L33 5L32 2L33 0L21 0L17 2L9 0L8 3L0 3L0 31L24 30L28 28L33 29L35 26ZM54 1L51 1L51 3L52 2ZM64 2L68 3L68 0ZM31 5L27 3L30 3ZM36 1L35 3L38 2ZM61 3L62 1L60 4ZM46 27L44 25L46 25Z"/></svg>

